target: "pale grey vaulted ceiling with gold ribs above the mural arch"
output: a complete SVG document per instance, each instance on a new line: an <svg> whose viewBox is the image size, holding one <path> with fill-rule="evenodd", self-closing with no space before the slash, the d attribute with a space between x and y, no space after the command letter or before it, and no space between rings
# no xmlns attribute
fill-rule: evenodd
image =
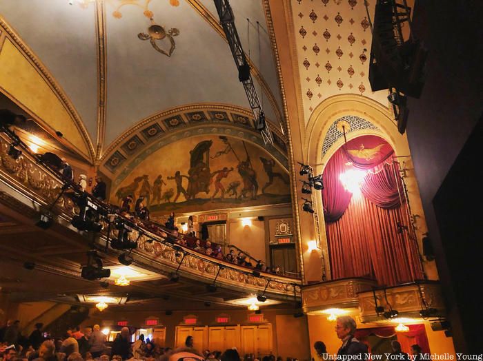
<svg viewBox="0 0 483 361"><path fill-rule="evenodd" d="M267 118L279 127L282 100L264 3L230 3ZM130 127L173 107L249 109L211 0L6 0L0 17L72 103L97 159ZM179 30L170 57L138 36L153 23ZM168 37L155 44L170 49Z"/></svg>

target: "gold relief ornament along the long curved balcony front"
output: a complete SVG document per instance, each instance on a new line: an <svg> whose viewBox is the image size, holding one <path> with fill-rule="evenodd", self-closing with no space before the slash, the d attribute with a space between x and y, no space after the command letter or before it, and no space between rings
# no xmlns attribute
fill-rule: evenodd
<svg viewBox="0 0 483 361"><path fill-rule="evenodd" d="M34 161L28 154L21 154L19 158L13 159L8 155L10 148L10 140L4 138L0 134L0 180L9 185L15 192L34 200L39 205L47 205L54 200L61 192L62 182ZM10 196L4 196L0 193L0 201L2 203L11 202ZM18 208L18 205L14 205ZM28 205L25 205L28 207ZM30 207L29 207L30 208ZM79 209L72 202L72 199L66 195L61 196L52 209L57 214L56 222L59 218L70 222ZM24 214L28 214L27 209L23 209ZM36 212L35 212L36 213ZM66 225L65 222L59 222ZM99 245L105 245L106 242L106 223L103 224L103 230L97 237L96 242ZM177 269L181 256L177 255L177 251L164 243L164 238L159 234L154 234L148 227L139 224L139 230L133 230L129 234L132 242L137 242L138 247L132 252L135 264L139 267L148 267L156 269L157 272L168 274L170 271ZM117 230L112 231L112 236L117 237ZM155 240L155 242L148 242ZM284 300L293 300L294 294L298 297L301 291L302 282L298 279L277 276L273 274L262 274L266 278L253 276L250 270L244 269L223 260L198 254L188 248L184 248L186 257L182 259L183 263L179 268L179 272L188 278L200 280L202 282L212 282L213 277L217 274L220 266L223 266L219 272L217 282L229 289L241 292L263 291L274 296L275 298ZM112 254L115 251L111 251ZM268 282L269 280L269 282ZM268 282L268 285L267 285Z"/></svg>

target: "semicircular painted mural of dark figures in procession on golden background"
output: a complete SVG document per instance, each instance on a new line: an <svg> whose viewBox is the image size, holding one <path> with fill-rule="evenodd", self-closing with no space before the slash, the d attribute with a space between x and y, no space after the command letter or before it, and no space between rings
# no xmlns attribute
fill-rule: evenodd
<svg viewBox="0 0 483 361"><path fill-rule="evenodd" d="M152 214L200 212L289 203L289 183L286 169L262 148L206 134L153 152L113 188L110 200L142 196Z"/></svg>

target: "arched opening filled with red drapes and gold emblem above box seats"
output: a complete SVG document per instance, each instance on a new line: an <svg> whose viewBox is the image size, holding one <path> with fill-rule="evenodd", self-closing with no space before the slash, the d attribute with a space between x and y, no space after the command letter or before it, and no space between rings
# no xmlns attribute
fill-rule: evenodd
<svg viewBox="0 0 483 361"><path fill-rule="evenodd" d="M365 135L339 147L324 169L322 204L333 279L397 285L424 278L394 149Z"/></svg>

